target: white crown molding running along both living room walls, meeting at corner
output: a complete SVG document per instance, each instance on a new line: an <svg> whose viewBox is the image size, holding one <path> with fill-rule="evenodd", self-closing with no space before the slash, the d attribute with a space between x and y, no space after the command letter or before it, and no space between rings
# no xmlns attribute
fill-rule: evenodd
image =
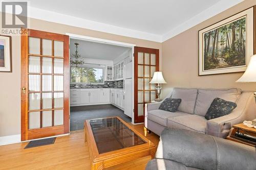
<svg viewBox="0 0 256 170"><path fill-rule="evenodd" d="M201 13L197 14L196 16L188 19L178 27L168 31L163 35L117 27L102 22L96 22L88 19L74 17L48 10L42 10L34 7L28 8L28 17L115 35L144 39L155 42L164 42L243 1L245 0L222 0L216 3L215 5L207 8L206 10L202 11ZM0 9L0 11L2 10Z"/></svg>

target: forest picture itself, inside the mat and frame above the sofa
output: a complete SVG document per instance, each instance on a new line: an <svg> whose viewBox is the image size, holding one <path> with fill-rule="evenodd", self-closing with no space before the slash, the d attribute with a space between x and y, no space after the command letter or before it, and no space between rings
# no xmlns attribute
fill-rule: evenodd
<svg viewBox="0 0 256 170"><path fill-rule="evenodd" d="M204 70L246 65L246 17L203 34Z"/></svg>

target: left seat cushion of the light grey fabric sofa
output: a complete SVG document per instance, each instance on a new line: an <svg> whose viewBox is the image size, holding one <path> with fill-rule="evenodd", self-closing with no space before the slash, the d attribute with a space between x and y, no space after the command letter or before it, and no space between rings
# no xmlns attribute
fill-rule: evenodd
<svg viewBox="0 0 256 170"><path fill-rule="evenodd" d="M188 115L187 113L182 113L179 111L176 112L168 112L165 110L150 110L147 112L147 118L152 120L153 122L156 122L162 126L167 127L167 119L169 117L175 117L175 116L183 116Z"/></svg>

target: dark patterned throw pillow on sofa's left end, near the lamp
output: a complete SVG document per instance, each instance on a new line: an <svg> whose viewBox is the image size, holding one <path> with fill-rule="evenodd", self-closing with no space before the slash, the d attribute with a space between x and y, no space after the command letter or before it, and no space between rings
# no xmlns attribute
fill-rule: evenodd
<svg viewBox="0 0 256 170"><path fill-rule="evenodd" d="M169 111L169 112L176 112L176 110L180 106L180 103L181 103L181 99L167 98L163 101L163 103L161 103L161 105L159 106L159 109Z"/></svg>

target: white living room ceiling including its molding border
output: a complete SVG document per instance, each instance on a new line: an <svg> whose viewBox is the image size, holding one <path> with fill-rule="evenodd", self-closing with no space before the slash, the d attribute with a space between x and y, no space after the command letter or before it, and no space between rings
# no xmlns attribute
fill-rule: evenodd
<svg viewBox="0 0 256 170"><path fill-rule="evenodd" d="M242 1L30 0L28 16L163 42Z"/></svg>

